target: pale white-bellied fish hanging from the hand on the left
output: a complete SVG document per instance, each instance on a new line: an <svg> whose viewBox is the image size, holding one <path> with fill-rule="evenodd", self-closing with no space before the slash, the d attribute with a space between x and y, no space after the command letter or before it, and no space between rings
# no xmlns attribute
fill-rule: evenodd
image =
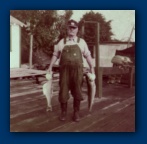
<svg viewBox="0 0 147 144"><path fill-rule="evenodd" d="M42 87L43 89L43 94L46 97L47 100L47 109L46 111L52 111L52 104L51 104L51 99L52 99L52 72L46 74L46 79L48 80Z"/></svg>

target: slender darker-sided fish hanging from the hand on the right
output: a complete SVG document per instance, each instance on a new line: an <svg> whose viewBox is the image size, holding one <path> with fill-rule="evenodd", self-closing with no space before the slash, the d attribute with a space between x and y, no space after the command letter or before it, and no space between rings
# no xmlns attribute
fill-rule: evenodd
<svg viewBox="0 0 147 144"><path fill-rule="evenodd" d="M96 95L95 74L87 73L88 84L88 109L91 112Z"/></svg>

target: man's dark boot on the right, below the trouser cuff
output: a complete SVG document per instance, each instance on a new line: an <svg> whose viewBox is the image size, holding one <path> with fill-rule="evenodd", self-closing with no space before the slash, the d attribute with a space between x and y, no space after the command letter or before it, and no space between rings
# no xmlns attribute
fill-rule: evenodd
<svg viewBox="0 0 147 144"><path fill-rule="evenodd" d="M79 116L79 110L80 110L80 101L74 100L74 114L73 114L73 121L79 122L80 116Z"/></svg>

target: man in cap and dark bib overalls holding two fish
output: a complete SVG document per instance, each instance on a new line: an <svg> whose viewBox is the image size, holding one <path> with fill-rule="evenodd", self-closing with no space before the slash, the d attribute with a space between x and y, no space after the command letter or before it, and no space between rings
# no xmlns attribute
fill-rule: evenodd
<svg viewBox="0 0 147 144"><path fill-rule="evenodd" d="M48 71L52 71L52 66L59 58L60 62L60 92L59 102L61 104L61 121L66 120L67 102L69 91L73 96L73 120L80 120L79 110L80 101L83 100L81 84L83 79L83 58L87 60L90 72L94 73L92 58L86 42L77 37L78 23L75 20L69 20L67 23L67 37L61 39L57 44L53 57L51 59Z"/></svg>

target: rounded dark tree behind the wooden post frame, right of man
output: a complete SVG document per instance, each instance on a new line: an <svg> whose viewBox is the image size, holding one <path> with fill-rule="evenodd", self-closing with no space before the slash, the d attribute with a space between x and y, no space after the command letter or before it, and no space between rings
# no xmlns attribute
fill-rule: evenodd
<svg viewBox="0 0 147 144"><path fill-rule="evenodd" d="M84 24L84 21L94 21L94 22L99 22L100 24L100 42L107 42L107 41L111 41L111 36L113 35L113 33L111 32L111 20L107 21L105 20L105 18L102 16L102 14L100 13L94 13L93 11L90 11L89 13L86 13L85 15L83 15L83 17L81 18L80 22L79 22L79 27L81 29L82 25ZM93 23L87 23L85 24L85 40L87 42L92 42L95 40L95 24ZM81 31L79 33L81 35Z"/></svg>

